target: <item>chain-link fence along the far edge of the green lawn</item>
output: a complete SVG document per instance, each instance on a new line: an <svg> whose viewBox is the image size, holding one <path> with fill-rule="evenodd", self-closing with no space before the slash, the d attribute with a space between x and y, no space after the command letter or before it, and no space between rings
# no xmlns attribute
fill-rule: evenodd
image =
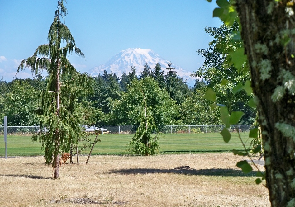
<svg viewBox="0 0 295 207"><path fill-rule="evenodd" d="M102 126L107 129L104 134L135 134L138 126ZM159 126L159 132L163 134L196 134L196 133L219 133L225 128L224 125L166 125ZM230 132L249 132L253 125L232 125ZM38 133L39 126L7 126L7 135L31 136ZM4 127L0 127L0 134L4 134Z"/></svg>

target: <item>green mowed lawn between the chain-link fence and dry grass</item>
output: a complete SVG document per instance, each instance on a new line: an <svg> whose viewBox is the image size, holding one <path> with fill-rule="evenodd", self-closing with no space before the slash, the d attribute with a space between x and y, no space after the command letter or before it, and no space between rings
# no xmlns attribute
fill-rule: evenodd
<svg viewBox="0 0 295 207"><path fill-rule="evenodd" d="M98 142L92 151L97 154L128 154L126 144L133 135L104 134L98 135ZM252 139L248 133L241 133L242 140L246 146L250 146ZM95 136L90 137L93 141ZM232 149L242 150L243 146L237 133L232 133L229 143L223 141L219 133L207 134L162 134L160 136L160 153L202 153L202 152L222 152ZM90 148L84 150L82 154L88 154ZM44 155L41 144L32 143L29 136L7 136L7 156L31 156ZM5 156L5 142L3 135L0 136L0 156Z"/></svg>

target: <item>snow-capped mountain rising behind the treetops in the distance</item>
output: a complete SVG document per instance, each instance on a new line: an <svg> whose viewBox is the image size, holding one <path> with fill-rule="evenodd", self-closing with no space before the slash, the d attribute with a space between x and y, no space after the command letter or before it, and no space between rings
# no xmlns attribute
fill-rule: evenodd
<svg viewBox="0 0 295 207"><path fill-rule="evenodd" d="M118 54L114 55L109 61L100 66L96 66L92 68L89 73L93 76L97 76L98 73L102 73L106 70L108 73L116 73L120 78L123 71L128 74L131 70L132 64L136 67L136 74L139 76L140 71L143 71L145 62L148 66L150 66L151 71L155 68L155 65L159 62L161 64L161 68L164 69L164 74L167 72L166 67L168 67L167 63L169 61L161 58L157 53L155 53L151 49L140 49L140 48L128 48L126 50L122 50ZM196 78L190 77L192 74L189 71L184 70L172 63L172 67L175 68L176 73L179 77L183 77L183 80L187 80L189 85L192 86L191 83L194 83Z"/></svg>

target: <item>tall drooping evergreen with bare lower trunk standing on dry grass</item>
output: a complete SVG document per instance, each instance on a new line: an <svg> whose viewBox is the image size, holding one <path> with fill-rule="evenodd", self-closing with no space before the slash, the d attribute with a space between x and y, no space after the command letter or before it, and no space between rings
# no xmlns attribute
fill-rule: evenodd
<svg viewBox="0 0 295 207"><path fill-rule="evenodd" d="M67 15L65 0L59 0L54 21L48 32L49 43L40 45L32 57L21 61L17 72L31 68L36 75L41 70L48 73L46 89L40 93L40 132L32 141L40 140L45 150L45 163L52 162L54 178L59 177L59 153L69 152L77 142L82 118L75 115L76 98L91 91L92 78L79 74L67 59L74 52L84 57L76 47L69 28L61 21ZM61 46L64 45L64 46ZM46 129L44 131L44 129Z"/></svg>

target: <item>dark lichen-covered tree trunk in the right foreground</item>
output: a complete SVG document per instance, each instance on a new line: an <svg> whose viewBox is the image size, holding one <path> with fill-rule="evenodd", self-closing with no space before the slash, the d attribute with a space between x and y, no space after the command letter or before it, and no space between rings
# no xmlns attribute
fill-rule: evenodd
<svg viewBox="0 0 295 207"><path fill-rule="evenodd" d="M272 206L295 206L294 6L287 0L234 4L259 112L269 199Z"/></svg>

